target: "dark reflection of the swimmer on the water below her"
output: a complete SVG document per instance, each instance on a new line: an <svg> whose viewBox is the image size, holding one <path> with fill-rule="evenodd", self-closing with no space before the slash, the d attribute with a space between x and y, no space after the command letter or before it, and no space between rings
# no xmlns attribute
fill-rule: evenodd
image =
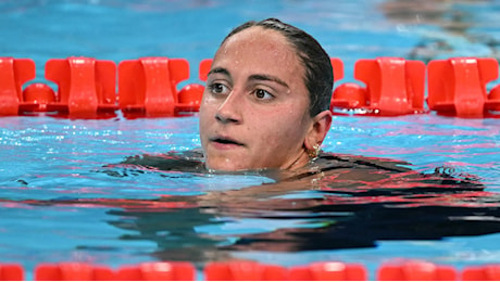
<svg viewBox="0 0 500 282"><path fill-rule="evenodd" d="M254 198L217 203L217 206L164 210L112 209L122 219L111 225L134 230L123 239L152 240L161 259L197 261L224 259L232 251L301 252L374 247L380 240L441 240L500 231L499 197L480 191L420 193L377 190L346 194L322 193L316 198ZM358 195L357 195L358 194ZM161 200L159 200L161 201ZM245 204L247 203L247 204ZM293 227L230 235L197 232L198 227L265 219L266 225L301 221ZM249 223L251 225L251 223Z"/></svg>

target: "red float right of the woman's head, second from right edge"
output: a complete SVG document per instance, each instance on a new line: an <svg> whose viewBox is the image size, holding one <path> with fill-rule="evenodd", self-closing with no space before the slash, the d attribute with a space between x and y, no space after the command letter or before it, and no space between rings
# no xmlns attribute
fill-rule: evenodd
<svg viewBox="0 0 500 282"><path fill-rule="evenodd" d="M407 115L424 111L425 64L401 57L359 60L354 78L366 87L345 84L335 89L332 108L360 108L376 115Z"/></svg>

